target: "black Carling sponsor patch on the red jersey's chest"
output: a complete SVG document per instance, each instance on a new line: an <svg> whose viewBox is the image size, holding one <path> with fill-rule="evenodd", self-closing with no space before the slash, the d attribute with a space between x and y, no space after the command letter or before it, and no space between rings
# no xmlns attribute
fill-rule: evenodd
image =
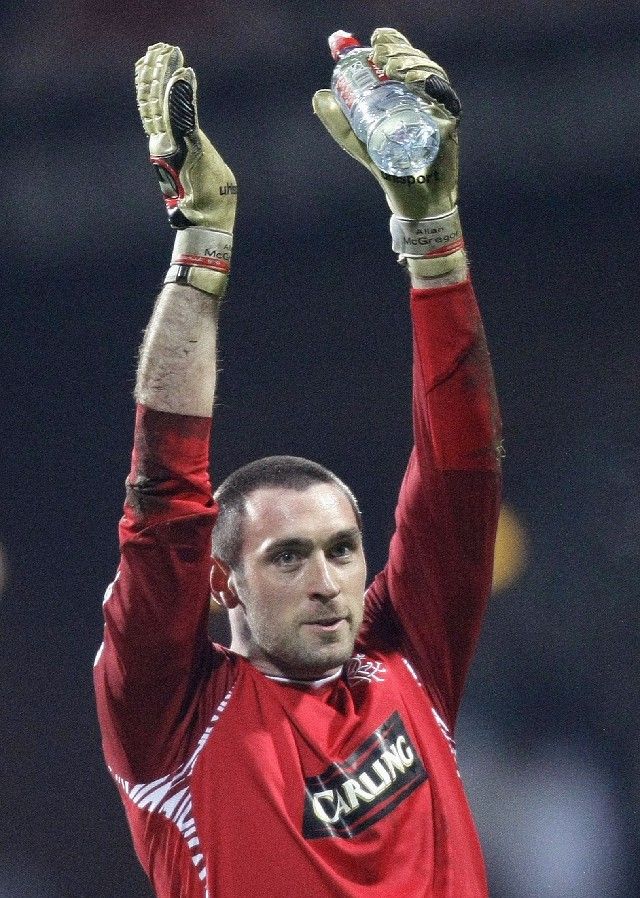
<svg viewBox="0 0 640 898"><path fill-rule="evenodd" d="M352 839L390 814L427 779L395 711L345 761L305 780L302 834Z"/></svg>

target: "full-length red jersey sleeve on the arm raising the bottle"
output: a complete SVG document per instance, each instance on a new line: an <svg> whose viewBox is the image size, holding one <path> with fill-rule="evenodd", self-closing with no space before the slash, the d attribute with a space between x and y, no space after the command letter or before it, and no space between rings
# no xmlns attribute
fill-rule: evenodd
<svg viewBox="0 0 640 898"><path fill-rule="evenodd" d="M470 281L412 290L411 314L414 447L364 632L407 652L453 728L491 589L500 418Z"/></svg>

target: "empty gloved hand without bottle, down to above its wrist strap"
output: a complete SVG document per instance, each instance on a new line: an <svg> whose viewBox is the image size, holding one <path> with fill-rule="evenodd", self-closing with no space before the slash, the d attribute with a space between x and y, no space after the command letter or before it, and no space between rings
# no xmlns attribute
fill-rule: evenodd
<svg viewBox="0 0 640 898"><path fill-rule="evenodd" d="M179 47L153 44L136 63L136 99L172 227L233 232L236 180L198 126L196 76Z"/></svg>

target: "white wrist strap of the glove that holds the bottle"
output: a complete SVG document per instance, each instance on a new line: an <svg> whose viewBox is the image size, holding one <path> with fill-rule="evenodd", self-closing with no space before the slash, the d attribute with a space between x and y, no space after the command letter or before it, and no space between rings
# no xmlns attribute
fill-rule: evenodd
<svg viewBox="0 0 640 898"><path fill-rule="evenodd" d="M391 216L391 245L398 261L413 270L420 268L441 274L449 271L464 256L464 240L456 206L433 218ZM414 261L415 260L415 261ZM419 260L419 264L418 263Z"/></svg>

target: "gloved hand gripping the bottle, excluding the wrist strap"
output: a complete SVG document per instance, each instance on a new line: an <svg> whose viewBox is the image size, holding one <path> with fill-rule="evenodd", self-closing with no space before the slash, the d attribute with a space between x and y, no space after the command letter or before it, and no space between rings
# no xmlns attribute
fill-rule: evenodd
<svg viewBox="0 0 640 898"><path fill-rule="evenodd" d="M458 117L460 101L446 72L421 50L416 50L394 28L376 28L371 36L371 60L389 78L403 81L427 100L440 130L440 150L424 172L395 177L381 172L371 161L330 90L319 90L313 109L333 139L369 169L385 192L391 211L407 219L445 215L458 200Z"/></svg>

